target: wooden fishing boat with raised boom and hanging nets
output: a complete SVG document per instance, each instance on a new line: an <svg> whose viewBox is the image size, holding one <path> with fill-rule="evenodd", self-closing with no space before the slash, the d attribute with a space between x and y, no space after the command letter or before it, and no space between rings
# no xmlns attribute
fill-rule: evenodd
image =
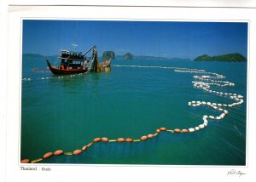
<svg viewBox="0 0 256 182"><path fill-rule="evenodd" d="M77 46L76 44L73 45ZM90 50L92 50L92 56L87 59L85 55ZM46 60L49 70L55 75L111 71L111 59L104 60L104 63L99 63L96 46L92 46L84 54L75 51L75 48L73 51L61 49L61 55L58 58L61 59L59 66L53 66L49 60Z"/></svg>

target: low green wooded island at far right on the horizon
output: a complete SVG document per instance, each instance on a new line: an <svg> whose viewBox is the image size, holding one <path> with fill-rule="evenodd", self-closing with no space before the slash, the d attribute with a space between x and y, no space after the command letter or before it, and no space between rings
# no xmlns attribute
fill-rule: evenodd
<svg viewBox="0 0 256 182"><path fill-rule="evenodd" d="M201 56L196 57L194 61L244 62L244 61L247 61L247 59L243 55L238 54L238 53L222 54L222 55L215 55L215 56L209 56L207 54L203 54Z"/></svg>

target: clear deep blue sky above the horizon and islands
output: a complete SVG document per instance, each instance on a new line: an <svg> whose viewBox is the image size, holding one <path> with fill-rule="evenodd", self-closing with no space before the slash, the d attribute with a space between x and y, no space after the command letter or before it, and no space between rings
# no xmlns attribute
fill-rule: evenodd
<svg viewBox="0 0 256 182"><path fill-rule="evenodd" d="M99 54L178 57L239 53L247 57L247 23L102 20L23 20L23 54L56 55L96 45Z"/></svg>

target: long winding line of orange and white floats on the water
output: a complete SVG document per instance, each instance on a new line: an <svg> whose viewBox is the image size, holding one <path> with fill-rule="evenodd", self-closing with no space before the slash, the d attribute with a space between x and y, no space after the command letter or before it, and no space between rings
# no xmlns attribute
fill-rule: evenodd
<svg viewBox="0 0 256 182"><path fill-rule="evenodd" d="M115 65L115 66L123 66L123 65ZM129 65L124 65L124 66L129 66ZM161 67L161 66L140 66L140 65L130 65L131 67L143 67L143 68L164 68L166 67ZM233 103L230 104L223 104L223 103L212 103L208 101L203 101L203 100L193 100L189 101L188 105L192 107L197 107L197 106L207 106L212 108L213 110L220 111L219 116L208 116L204 115L201 117L202 122L198 126L191 127L191 128L157 128L153 134L145 134L139 139L131 139L131 138L118 138L118 139L108 139L107 137L97 137L95 139L92 139L92 141L84 145L81 149L77 149L74 151L62 151L62 150L57 150L57 151L49 151L44 154L44 156L35 159L35 160L30 160L30 159L22 159L20 163L36 163L36 162L41 162L42 160L45 160L51 156L60 156L60 155L79 155L86 151L91 145L94 145L97 142L142 142L147 139L152 139L161 132L168 132L171 134L187 134L187 133L194 133L196 131L199 131L203 128L206 128L208 125L208 122L214 121L214 120L222 120L224 117L229 113L227 108L234 107L236 105L241 105L244 100L243 96L241 94L234 94L234 93L227 93L227 92L219 92L217 90L213 90L211 86L217 86L219 88L223 87L234 87L235 83L233 82L227 82L227 81L222 81L221 79L224 79L225 77L223 75L219 75L218 73L213 73L213 72L206 72L204 70L197 70L197 69L189 69L189 68L177 68L177 67L169 67L168 69L174 69L174 71L179 72L179 73L193 73L193 74L202 74L201 76L194 76L193 78L195 81L192 81L194 88L199 88L203 89L203 91L211 94L217 94L218 96L222 97L229 97L230 100L233 100Z"/></svg>

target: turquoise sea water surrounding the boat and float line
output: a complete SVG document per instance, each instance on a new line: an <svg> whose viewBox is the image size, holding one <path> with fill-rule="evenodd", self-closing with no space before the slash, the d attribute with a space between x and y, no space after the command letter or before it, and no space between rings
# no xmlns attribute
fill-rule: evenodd
<svg viewBox="0 0 256 182"><path fill-rule="evenodd" d="M134 143L99 142L79 156L53 156L42 162L245 165L244 62L113 60L110 72L57 78L46 68L44 58L23 56L22 78L32 81L22 81L21 86L20 158L33 160L59 149L75 151L96 137L139 139L160 127L195 127L202 123L203 115L215 116L219 112L207 106L190 107L189 101L233 103L228 97L193 88L191 82L196 74L178 73L170 67L223 74L225 81L236 86L216 90L241 94L245 102L228 108L229 114L223 120L209 122L199 132L162 132L153 139Z"/></svg>

